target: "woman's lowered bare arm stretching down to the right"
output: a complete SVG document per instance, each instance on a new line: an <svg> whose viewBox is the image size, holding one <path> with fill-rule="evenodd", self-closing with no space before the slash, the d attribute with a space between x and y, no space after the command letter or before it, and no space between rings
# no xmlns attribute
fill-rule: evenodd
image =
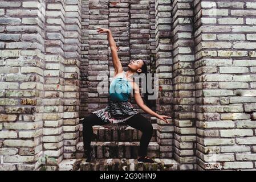
<svg viewBox="0 0 256 182"><path fill-rule="evenodd" d="M159 115L155 111L151 110L147 105L144 104L143 99L141 98L141 95L140 95L139 86L135 82L133 82L132 85L133 85L133 89L135 90L134 98L135 98L136 104L141 109L143 109L146 113L151 114L152 116L162 119L162 121L165 121L166 123L168 123L166 118L171 118L171 117L168 117L166 115Z"/></svg>

